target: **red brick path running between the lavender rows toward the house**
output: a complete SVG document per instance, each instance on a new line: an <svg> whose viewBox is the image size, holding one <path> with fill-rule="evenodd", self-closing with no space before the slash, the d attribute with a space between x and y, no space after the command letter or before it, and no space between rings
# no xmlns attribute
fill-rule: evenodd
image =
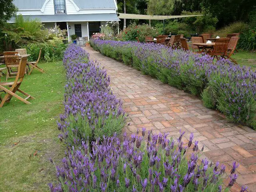
<svg viewBox="0 0 256 192"><path fill-rule="evenodd" d="M256 191L254 130L228 122L224 115L205 108L191 94L142 75L90 47L85 49L90 53L90 59L101 62L105 67L114 94L123 100L125 111L129 114L129 125L124 131L131 134L137 128L145 127L155 133L169 132L169 136L177 138L181 129L186 131L184 143L188 142L193 132L194 140L199 141L199 148L204 146L204 155L213 162L225 164L227 172L230 172L234 160L240 162L237 183L231 191L240 191L238 185L247 185L250 191Z"/></svg>

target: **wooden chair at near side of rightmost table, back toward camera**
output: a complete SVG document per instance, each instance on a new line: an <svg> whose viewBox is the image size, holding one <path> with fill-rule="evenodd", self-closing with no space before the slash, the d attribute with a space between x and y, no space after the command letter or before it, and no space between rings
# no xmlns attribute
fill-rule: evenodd
<svg viewBox="0 0 256 192"><path fill-rule="evenodd" d="M228 42L229 42L229 38L216 39L213 51L210 50L208 54L210 54L217 60L219 60L220 57L224 58L225 56L227 56L226 52L228 50Z"/></svg>

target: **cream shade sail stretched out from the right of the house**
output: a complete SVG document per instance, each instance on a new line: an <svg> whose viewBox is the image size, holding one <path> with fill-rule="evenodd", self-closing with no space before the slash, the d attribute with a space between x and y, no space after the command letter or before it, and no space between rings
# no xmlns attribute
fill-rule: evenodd
<svg viewBox="0 0 256 192"><path fill-rule="evenodd" d="M203 15L138 15L138 14L118 13L119 19L166 20L166 19L196 17L196 16L203 16Z"/></svg>

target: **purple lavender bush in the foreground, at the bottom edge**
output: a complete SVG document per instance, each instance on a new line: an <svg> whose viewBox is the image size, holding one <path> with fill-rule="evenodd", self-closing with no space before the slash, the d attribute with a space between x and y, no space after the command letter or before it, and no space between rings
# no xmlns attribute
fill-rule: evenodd
<svg viewBox="0 0 256 192"><path fill-rule="evenodd" d="M190 134L188 146L184 146L182 136L175 142L168 134L151 134L148 131L144 141L142 136L124 135L124 141L114 135L90 143L82 141L80 149L69 148L62 159L62 167L56 167L60 184L50 184L52 192L58 191L109 191L109 192L222 192L225 166L212 164L206 158L198 160L198 141L192 144ZM193 153L186 158L191 147ZM229 191L236 181L236 168L233 163L230 182L223 191ZM247 187L242 187L245 192Z"/></svg>

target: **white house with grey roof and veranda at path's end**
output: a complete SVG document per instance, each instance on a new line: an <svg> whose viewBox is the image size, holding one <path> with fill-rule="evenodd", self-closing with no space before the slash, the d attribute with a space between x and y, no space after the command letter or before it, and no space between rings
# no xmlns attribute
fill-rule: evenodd
<svg viewBox="0 0 256 192"><path fill-rule="evenodd" d="M100 31L107 21L118 21L116 0L13 0L17 14L38 18L46 28L56 25L78 37ZM10 21L14 22L14 18Z"/></svg>

